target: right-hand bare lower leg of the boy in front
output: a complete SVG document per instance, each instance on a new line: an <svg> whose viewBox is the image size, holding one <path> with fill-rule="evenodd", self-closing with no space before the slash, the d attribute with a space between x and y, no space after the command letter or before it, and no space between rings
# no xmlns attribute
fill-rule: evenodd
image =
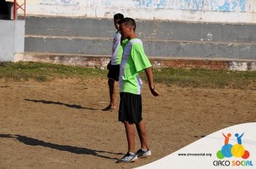
<svg viewBox="0 0 256 169"><path fill-rule="evenodd" d="M146 125L143 122L143 120L136 123L136 128L137 128L138 135L140 137L141 148L148 149L148 140L147 140L147 135L146 135Z"/></svg>

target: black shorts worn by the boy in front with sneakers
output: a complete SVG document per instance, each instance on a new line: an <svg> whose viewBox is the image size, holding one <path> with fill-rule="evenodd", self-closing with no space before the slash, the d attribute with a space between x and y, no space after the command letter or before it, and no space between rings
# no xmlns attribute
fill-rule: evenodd
<svg viewBox="0 0 256 169"><path fill-rule="evenodd" d="M141 95L120 93L118 121L138 123L142 120Z"/></svg>

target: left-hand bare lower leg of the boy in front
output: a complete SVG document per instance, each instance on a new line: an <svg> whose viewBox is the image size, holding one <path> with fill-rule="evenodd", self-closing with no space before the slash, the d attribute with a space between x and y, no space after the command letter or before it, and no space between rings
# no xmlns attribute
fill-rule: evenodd
<svg viewBox="0 0 256 169"><path fill-rule="evenodd" d="M132 123L124 121L125 131L127 133L128 151L135 152L135 127Z"/></svg>

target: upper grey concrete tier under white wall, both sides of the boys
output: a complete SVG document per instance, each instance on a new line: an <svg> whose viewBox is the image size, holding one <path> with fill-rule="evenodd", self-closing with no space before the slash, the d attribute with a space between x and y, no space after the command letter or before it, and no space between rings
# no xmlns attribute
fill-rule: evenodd
<svg viewBox="0 0 256 169"><path fill-rule="evenodd" d="M206 42L256 42L256 24L187 23L167 20L137 20L140 39ZM26 18L26 34L113 37L113 20L86 17Z"/></svg>

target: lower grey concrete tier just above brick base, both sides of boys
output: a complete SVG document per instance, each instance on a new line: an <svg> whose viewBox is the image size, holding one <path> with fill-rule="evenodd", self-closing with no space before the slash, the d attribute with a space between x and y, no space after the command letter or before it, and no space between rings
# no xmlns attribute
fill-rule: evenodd
<svg viewBox="0 0 256 169"><path fill-rule="evenodd" d="M256 43L202 42L143 39L146 55L154 57L241 58L255 57ZM26 52L111 55L112 39L86 36L26 35Z"/></svg>

